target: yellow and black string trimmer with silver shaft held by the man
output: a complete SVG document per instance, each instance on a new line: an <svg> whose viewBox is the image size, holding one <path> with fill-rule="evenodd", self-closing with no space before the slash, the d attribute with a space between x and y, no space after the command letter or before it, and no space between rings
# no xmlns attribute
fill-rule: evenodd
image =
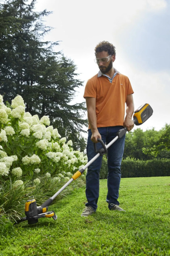
<svg viewBox="0 0 170 256"><path fill-rule="evenodd" d="M141 107L139 107L134 112L134 116L133 116L134 124L136 126L141 125L142 123L147 121L147 119L149 117L152 116L152 113L153 113L153 110L152 110L151 106L149 106L149 104L142 105ZM91 165L92 162L94 162L99 156L104 155L105 153L107 153L107 149L109 148L109 146L111 146L117 139L123 137L126 132L127 132L127 128L126 127L124 129L119 130L118 133L117 133L117 136L107 145L105 145L101 139L97 139L98 142L100 142L102 144L103 148L97 150L96 143L94 143L94 148L95 148L95 151L97 153L94 156L94 158L92 158L83 168L78 170L72 176L72 178L62 188L60 188L60 190L58 190L52 197L47 199L47 201L45 201L41 206L37 206L36 205L35 199L28 200L26 202L26 205L25 205L26 217L23 217L23 218L21 218L19 220L16 220L15 224L17 224L19 222L23 222L25 220L28 220L28 224L35 224L35 223L38 222L39 218L51 218L52 217L54 220L56 220L57 216L55 215L54 211L47 212L49 205L58 196L58 194L60 194L73 180L76 180L81 174L83 174L85 169L89 165Z"/></svg>

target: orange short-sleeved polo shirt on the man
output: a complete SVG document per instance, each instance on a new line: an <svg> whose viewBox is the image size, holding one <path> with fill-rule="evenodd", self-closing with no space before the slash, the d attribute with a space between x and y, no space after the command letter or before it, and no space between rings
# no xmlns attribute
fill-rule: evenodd
<svg viewBox="0 0 170 256"><path fill-rule="evenodd" d="M126 97L134 93L129 78L117 73L111 83L106 76L97 76L87 81L84 92L84 98L96 98L97 127L123 126Z"/></svg>

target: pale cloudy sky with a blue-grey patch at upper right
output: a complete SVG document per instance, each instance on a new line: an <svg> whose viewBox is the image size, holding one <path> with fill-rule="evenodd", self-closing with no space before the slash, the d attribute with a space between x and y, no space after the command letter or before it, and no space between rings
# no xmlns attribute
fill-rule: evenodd
<svg viewBox="0 0 170 256"><path fill-rule="evenodd" d="M53 27L45 36L60 41L55 50L74 61L83 82L73 103L85 101L88 79L98 73L94 48L101 41L116 47L114 68L128 76L135 109L144 103L153 115L141 126L160 130L170 124L170 1L169 0L37 0L35 11ZM87 118L87 116L85 116Z"/></svg>

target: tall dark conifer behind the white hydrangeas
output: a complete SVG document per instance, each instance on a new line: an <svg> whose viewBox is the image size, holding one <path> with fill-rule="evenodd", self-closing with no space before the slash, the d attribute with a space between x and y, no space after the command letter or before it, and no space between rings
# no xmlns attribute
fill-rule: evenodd
<svg viewBox="0 0 170 256"><path fill-rule="evenodd" d="M77 79L74 63L53 50L58 42L43 41L51 28L42 18L50 12L35 12L36 0L27 2L9 0L0 5L0 94L10 103L21 95L26 111L49 116L63 137L84 150L85 103L71 105L83 83Z"/></svg>

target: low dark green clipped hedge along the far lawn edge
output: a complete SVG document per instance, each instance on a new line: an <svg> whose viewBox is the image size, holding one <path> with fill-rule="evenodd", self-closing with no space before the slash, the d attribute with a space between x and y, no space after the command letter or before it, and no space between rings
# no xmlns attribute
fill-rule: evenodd
<svg viewBox="0 0 170 256"><path fill-rule="evenodd" d="M100 179L106 179L108 174L107 159L103 158ZM170 159L136 160L126 158L121 162L121 177L157 177L170 176Z"/></svg>

